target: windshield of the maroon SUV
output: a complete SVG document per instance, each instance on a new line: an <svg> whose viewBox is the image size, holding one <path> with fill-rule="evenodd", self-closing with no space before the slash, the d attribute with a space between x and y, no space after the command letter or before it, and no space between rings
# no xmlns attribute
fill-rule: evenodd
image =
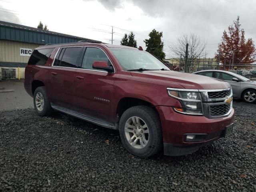
<svg viewBox="0 0 256 192"><path fill-rule="evenodd" d="M123 70L170 70L165 64L152 54L135 49L110 48L116 56Z"/></svg>

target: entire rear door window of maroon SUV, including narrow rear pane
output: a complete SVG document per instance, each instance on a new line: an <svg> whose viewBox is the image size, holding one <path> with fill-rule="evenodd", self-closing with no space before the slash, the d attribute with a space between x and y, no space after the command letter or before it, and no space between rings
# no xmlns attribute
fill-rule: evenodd
<svg viewBox="0 0 256 192"><path fill-rule="evenodd" d="M58 58L54 61L54 66L61 67L78 67L78 58L81 54L81 47L70 47L70 48L62 48L59 51Z"/></svg>

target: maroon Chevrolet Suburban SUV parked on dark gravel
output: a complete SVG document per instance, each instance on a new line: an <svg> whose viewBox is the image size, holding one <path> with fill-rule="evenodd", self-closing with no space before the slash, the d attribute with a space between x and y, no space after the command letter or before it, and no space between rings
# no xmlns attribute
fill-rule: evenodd
<svg viewBox="0 0 256 192"><path fill-rule="evenodd" d="M178 156L231 134L232 89L170 70L141 48L77 42L36 48L24 86L38 115L52 110L117 129L128 152Z"/></svg>

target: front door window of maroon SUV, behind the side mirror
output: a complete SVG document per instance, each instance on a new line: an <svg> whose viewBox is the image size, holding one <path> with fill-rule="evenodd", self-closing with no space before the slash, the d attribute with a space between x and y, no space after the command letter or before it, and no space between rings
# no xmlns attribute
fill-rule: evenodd
<svg viewBox="0 0 256 192"><path fill-rule="evenodd" d="M111 66L110 60L101 49L95 48L95 47L86 48L83 62L82 62L82 68L93 69L92 64L94 61L106 61L108 63L108 66Z"/></svg>

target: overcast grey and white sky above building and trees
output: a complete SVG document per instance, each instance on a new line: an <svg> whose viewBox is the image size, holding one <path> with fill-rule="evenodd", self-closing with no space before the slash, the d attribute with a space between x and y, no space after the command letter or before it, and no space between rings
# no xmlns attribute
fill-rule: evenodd
<svg viewBox="0 0 256 192"><path fill-rule="evenodd" d="M237 16L255 44L256 0L0 0L0 20L31 27L42 21L51 31L103 42L110 42L114 26L113 44L133 31L145 48L143 39L155 28L163 32L166 58L174 56L168 45L190 32L207 42L207 57L213 57Z"/></svg>

